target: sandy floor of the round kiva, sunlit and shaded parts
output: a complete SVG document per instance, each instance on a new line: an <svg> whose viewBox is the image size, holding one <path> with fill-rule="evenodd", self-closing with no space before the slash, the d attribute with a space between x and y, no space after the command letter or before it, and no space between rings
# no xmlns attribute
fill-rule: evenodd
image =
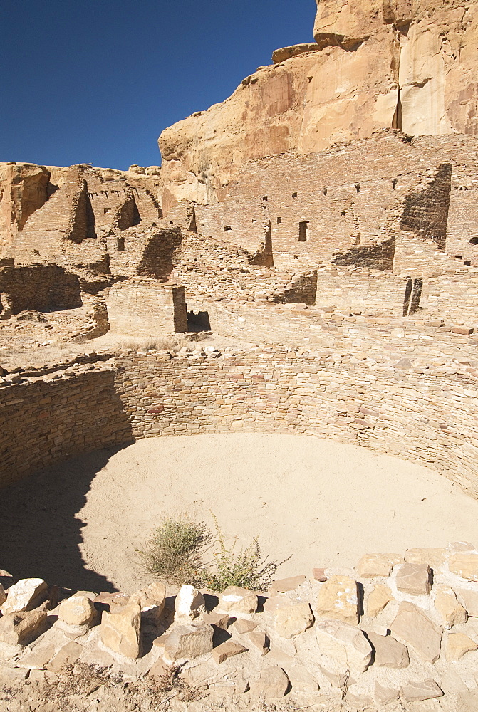
<svg viewBox="0 0 478 712"><path fill-rule="evenodd" d="M358 446L283 434L144 439L49 468L3 491L0 568L132 592L135 549L187 513L232 542L259 536L280 576L351 567L363 553L478 543L478 502L434 471ZM21 562L21 568L20 568Z"/></svg>

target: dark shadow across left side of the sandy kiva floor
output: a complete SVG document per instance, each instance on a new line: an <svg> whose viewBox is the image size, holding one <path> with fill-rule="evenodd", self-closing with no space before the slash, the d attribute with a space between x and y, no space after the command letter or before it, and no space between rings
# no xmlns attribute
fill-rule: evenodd
<svg viewBox="0 0 478 712"><path fill-rule="evenodd" d="M95 475L128 444L85 454L80 462L63 461L2 488L0 569L14 580L38 577L73 590L116 591L106 577L85 568L78 548L84 523L76 514Z"/></svg>

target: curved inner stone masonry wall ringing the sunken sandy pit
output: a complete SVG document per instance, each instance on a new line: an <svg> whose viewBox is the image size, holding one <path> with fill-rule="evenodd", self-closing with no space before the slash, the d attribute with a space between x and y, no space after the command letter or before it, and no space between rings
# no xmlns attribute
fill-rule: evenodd
<svg viewBox="0 0 478 712"><path fill-rule="evenodd" d="M161 434L287 432L422 461L478 494L478 374L394 369L280 349L110 354L24 371L0 387L0 483L84 451Z"/></svg>

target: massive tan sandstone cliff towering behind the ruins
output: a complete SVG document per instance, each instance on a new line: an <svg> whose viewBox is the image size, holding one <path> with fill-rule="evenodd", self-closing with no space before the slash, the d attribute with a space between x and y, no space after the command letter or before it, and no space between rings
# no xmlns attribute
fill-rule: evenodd
<svg viewBox="0 0 478 712"><path fill-rule="evenodd" d="M316 47L275 53L234 94L160 136L173 199L220 199L244 162L316 152L383 127L478 133L472 0L318 0Z"/></svg>

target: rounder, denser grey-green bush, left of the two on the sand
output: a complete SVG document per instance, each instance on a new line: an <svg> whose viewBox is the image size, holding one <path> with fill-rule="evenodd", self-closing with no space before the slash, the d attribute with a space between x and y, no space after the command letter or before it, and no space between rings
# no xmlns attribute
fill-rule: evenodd
<svg viewBox="0 0 478 712"><path fill-rule="evenodd" d="M197 571L202 569L202 553L211 540L203 523L166 517L137 554L150 573L180 586L194 583Z"/></svg>

